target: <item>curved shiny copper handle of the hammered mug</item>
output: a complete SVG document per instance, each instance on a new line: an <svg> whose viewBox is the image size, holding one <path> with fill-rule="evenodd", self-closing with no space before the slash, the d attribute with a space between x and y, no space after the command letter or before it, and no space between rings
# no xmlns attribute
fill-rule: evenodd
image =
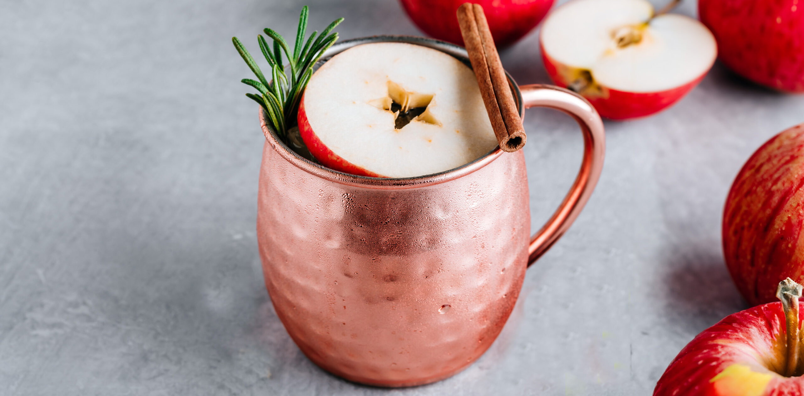
<svg viewBox="0 0 804 396"><path fill-rule="evenodd" d="M603 170L605 133L601 116L589 101L575 92L545 84L523 85L519 91L522 92L525 108L555 108L566 112L577 121L584 133L584 159L580 163L578 176L556 213L531 237L531 244L527 248L527 266L530 267L564 235L589 201Z"/></svg>

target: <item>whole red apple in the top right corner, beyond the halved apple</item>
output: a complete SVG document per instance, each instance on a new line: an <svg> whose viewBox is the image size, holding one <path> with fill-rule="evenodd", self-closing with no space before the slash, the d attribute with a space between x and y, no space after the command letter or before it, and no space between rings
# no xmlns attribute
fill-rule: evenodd
<svg viewBox="0 0 804 396"><path fill-rule="evenodd" d="M700 0L698 14L726 66L770 88L804 92L804 3Z"/></svg>

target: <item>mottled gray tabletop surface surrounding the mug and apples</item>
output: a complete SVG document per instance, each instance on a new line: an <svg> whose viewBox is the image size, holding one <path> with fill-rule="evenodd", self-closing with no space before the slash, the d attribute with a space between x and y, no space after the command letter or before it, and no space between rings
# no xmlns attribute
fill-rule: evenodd
<svg viewBox="0 0 804 396"><path fill-rule="evenodd" d="M311 29L420 35L394 0L314 0ZM0 394L650 394L695 334L747 308L720 251L740 165L804 122L804 96L720 64L657 116L606 122L597 191L528 272L469 369L380 390L310 363L277 320L255 239L264 137L236 35L295 35L301 4L0 2ZM695 2L679 8L695 15ZM503 52L546 83L538 35ZM529 110L537 228L582 141Z"/></svg>

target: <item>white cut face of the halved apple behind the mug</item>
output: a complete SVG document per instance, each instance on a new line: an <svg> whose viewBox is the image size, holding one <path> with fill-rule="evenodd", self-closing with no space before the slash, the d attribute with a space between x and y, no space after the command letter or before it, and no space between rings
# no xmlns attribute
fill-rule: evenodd
<svg viewBox="0 0 804 396"><path fill-rule="evenodd" d="M653 16L645 0L574 0L544 22L542 48L565 73L588 71L621 92L662 92L703 76L717 55L712 33L687 16Z"/></svg>

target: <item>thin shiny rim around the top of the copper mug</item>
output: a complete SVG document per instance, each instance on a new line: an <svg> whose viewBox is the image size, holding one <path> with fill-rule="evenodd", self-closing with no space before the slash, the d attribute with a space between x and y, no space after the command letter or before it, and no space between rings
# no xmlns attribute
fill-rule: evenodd
<svg viewBox="0 0 804 396"><path fill-rule="evenodd" d="M469 56L467 55L464 47L457 46L453 43L447 43L442 40L408 35L375 35L345 40L343 42L335 43L332 47L330 47L330 49L327 50L324 55L322 55L322 59L326 61L332 56L338 55L339 53L346 51L351 47L367 43L409 43L421 45L423 47L430 47L435 50L445 52L448 55L452 55L454 58L460 60L462 63L465 63L471 68ZM508 71L506 71L505 74L508 80L508 86L511 88L511 93L514 94L514 100L516 102L517 110L519 111L519 116L521 117L523 115L522 92L519 91L519 86L516 84L514 78L511 77ZM260 126L265 134L265 140L268 141L273 150L284 158L285 161L290 162L297 168L304 170L308 174L313 174L319 178L329 180L330 182L372 189L401 190L423 186L433 186L443 182L449 182L457 178L462 178L467 174L474 173L478 169L489 165L492 161L505 153L503 149L500 149L499 145L497 145L490 152L478 157L474 161L470 161L464 165L458 166L457 168L448 169L436 174L425 174L423 176L415 176L412 178L371 178L369 176L359 176L339 172L337 170L327 168L326 166L316 164L305 157L301 157L301 155L285 145L285 142L279 138L276 131L274 131L268 125L265 110L262 107L260 107Z"/></svg>

